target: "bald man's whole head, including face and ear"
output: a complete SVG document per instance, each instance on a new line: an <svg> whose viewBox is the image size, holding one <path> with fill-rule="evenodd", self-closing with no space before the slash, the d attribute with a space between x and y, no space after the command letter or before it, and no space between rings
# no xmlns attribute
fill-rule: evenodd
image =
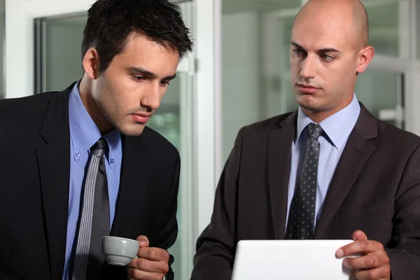
<svg viewBox="0 0 420 280"><path fill-rule="evenodd" d="M309 0L292 29L290 69L297 104L319 123L353 100L359 73L374 57L359 0Z"/></svg>

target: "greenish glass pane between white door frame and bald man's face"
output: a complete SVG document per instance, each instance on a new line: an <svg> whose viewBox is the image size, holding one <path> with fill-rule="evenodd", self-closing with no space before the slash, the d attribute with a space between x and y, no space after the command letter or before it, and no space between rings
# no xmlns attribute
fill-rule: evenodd
<svg viewBox="0 0 420 280"><path fill-rule="evenodd" d="M290 84L288 52L291 25L301 1L223 0L222 3L222 160L225 162L240 127L286 110L284 97L293 97L290 90L286 93ZM283 27L279 27L276 12L283 17ZM267 23L267 18L272 22ZM274 55L267 55L267 48L272 48ZM273 64L269 73L267 57L272 57Z"/></svg>

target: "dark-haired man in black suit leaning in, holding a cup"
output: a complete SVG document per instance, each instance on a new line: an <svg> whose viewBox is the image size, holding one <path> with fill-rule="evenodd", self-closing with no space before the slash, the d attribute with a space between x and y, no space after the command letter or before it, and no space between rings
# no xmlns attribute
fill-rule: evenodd
<svg viewBox="0 0 420 280"><path fill-rule="evenodd" d="M180 158L146 123L191 48L173 3L98 0L83 77L0 101L0 279L174 279ZM138 258L107 264L105 235Z"/></svg>

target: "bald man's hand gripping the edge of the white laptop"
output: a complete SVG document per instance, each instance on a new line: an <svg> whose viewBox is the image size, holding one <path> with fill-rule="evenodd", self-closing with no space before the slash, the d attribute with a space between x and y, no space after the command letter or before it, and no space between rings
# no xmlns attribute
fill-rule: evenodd
<svg viewBox="0 0 420 280"><path fill-rule="evenodd" d="M339 248L337 258L362 253L358 258L344 258L343 265L354 269L359 280L391 279L391 266L384 246L381 243L368 240L364 232L357 230L353 233L354 242Z"/></svg>

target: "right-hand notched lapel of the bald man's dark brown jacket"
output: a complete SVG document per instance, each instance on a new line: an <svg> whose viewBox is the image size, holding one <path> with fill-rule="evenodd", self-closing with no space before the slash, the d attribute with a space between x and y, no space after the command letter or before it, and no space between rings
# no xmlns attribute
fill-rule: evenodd
<svg viewBox="0 0 420 280"><path fill-rule="evenodd" d="M323 212L316 225L314 239L322 239L332 217L337 213L365 162L375 150L375 147L367 141L375 137L377 137L377 120L361 105L356 126L349 135L334 176L332 176Z"/></svg>

